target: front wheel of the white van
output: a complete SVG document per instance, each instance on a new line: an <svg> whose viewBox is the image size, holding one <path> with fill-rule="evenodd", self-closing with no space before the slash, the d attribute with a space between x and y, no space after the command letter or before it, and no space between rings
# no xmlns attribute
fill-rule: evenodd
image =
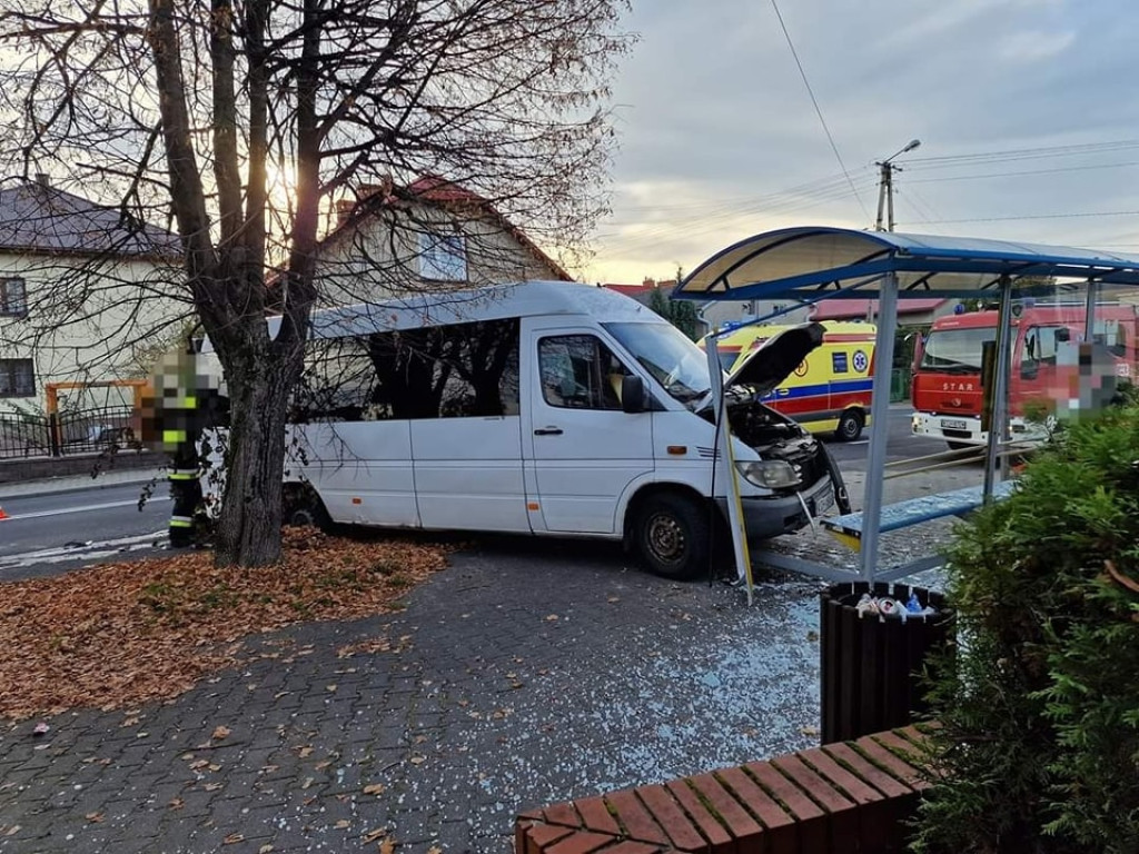
<svg viewBox="0 0 1139 854"><path fill-rule="evenodd" d="M685 580L707 569L711 526L704 504L687 495L650 495L636 524L637 547L650 572Z"/></svg>

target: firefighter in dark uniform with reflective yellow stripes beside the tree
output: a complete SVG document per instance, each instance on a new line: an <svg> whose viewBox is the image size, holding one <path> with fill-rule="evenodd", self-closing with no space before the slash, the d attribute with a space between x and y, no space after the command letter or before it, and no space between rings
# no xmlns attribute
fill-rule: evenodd
<svg viewBox="0 0 1139 854"><path fill-rule="evenodd" d="M189 348L164 354L144 396L144 438L169 455L170 544L199 541L204 523L198 438L207 427L210 388Z"/></svg>

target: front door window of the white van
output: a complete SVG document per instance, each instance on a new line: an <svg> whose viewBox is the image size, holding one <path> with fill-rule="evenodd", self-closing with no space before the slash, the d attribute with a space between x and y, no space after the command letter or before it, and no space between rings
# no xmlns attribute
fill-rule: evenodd
<svg viewBox="0 0 1139 854"><path fill-rule="evenodd" d="M632 372L592 335L559 335L538 343L542 397L565 409L621 409Z"/></svg>

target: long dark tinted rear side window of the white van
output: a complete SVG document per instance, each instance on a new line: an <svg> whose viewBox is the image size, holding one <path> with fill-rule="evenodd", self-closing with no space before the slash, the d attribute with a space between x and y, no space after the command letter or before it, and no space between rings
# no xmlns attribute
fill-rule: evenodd
<svg viewBox="0 0 1139 854"><path fill-rule="evenodd" d="M518 320L310 343L294 420L518 414Z"/></svg>

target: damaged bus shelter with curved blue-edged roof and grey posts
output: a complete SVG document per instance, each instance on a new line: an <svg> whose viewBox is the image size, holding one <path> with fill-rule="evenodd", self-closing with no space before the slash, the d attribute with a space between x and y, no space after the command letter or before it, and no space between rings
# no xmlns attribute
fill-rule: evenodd
<svg viewBox="0 0 1139 854"><path fill-rule="evenodd" d="M870 410L869 455L862 510L850 515L859 534L859 561L855 572L826 566L770 550L756 559L779 568L816 575L829 581L894 581L939 566L935 556L892 567L879 566L879 539L886 465L891 369L898 328L900 299L941 296L982 297L999 306L995 369L993 372L992 419L984 450L984 483L969 496L927 496L924 514L916 520L961 514L970 506L1007 493L1011 484L1002 481L1001 459L1008 453L1008 377L1010 370L1010 328L1014 301L1055 293L1056 288L1083 290L1085 330L1093 328L1096 304L1104 288L1139 286L1139 256L1120 255L1068 246L1044 246L1009 240L939 237L885 231L859 231L830 227L796 227L755 235L728 246L703 262L680 282L673 298L697 301L779 299L809 305L822 299L876 298L878 328L874 388ZM1136 291L1139 294L1139 291ZM719 376L715 334L708 336L708 363ZM713 379L718 394L716 413L723 413L723 389ZM728 430L719 459L726 467L732 537L740 580L748 583L751 560L743 542L738 488L730 470ZM939 503L940 501L940 503ZM901 527L896 523L893 527Z"/></svg>

